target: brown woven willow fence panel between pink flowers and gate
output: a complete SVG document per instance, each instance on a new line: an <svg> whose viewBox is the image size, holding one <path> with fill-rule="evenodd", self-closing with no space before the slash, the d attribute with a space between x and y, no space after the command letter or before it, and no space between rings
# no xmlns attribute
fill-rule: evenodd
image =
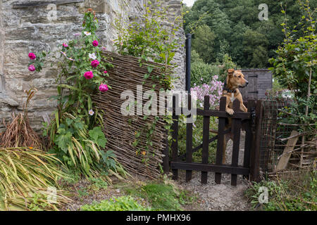
<svg viewBox="0 0 317 225"><path fill-rule="evenodd" d="M148 176L151 179L157 179L160 174L159 165L163 160L163 148L166 148L166 129L163 117L160 117L156 124L156 129L153 134L153 146L149 146L149 150L145 150L147 146L147 132L142 132L139 136L139 144L135 147L132 143L135 141L135 134L147 124L151 125L154 121L154 116L149 116L147 120L143 119L143 115L123 116L120 113L121 105L127 99L120 99L120 95L125 90L131 90L137 99L137 85L142 85L144 75L148 73L147 66L150 65L154 70L151 75L160 75L161 65L156 63L144 63L139 65L139 58L132 56L120 56L115 53L105 51L104 56L108 63L113 64L113 68L108 69L108 85L111 89L105 93L99 93L93 97L97 108L104 110L104 133L108 139L106 150L113 150L117 156L118 162L128 172ZM153 85L157 96L159 89L166 89L165 86L160 86L158 81L154 81L149 77L142 85L143 93L151 90ZM142 93L142 94L143 94ZM143 101L143 105L146 101ZM137 104L135 104L135 108ZM136 112L136 110L135 110ZM159 112L159 110L158 110ZM138 151L139 149L139 151ZM144 162L145 159L147 163Z"/></svg>

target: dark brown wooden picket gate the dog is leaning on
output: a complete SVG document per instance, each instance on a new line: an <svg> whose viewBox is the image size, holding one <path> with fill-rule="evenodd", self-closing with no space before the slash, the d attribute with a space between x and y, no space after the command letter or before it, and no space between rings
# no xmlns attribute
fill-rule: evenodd
<svg viewBox="0 0 317 225"><path fill-rule="evenodd" d="M188 105L191 105L189 96ZM250 99L247 102L247 113L242 113L240 110L240 101L235 99L233 102L233 110L235 113L231 116L225 112L226 98L220 98L220 110L209 110L209 96L204 97L204 110L197 109L197 115L204 117L203 122L203 140L200 146L192 146L192 123L187 122L186 129L186 153L185 155L178 154L178 119L179 115L175 115L178 98L173 96L173 141L171 144L171 158L168 163L168 148L164 151L166 158L163 161L163 169L169 172L171 167L173 179L178 179L178 170L186 170L186 181L192 179L192 171L201 171L201 184L207 183L207 173L215 172L216 184L221 182L221 174L231 174L231 185L237 185L237 174L242 174L251 179L251 181L259 180L259 147L261 136L261 118L262 118L262 102ZM182 112L182 109L181 109ZM187 120L190 115L187 115ZM209 137L209 122L210 117L218 117L218 135L210 139ZM226 118L232 118L232 126L225 129ZM239 146L240 146L240 131L242 126L246 131L244 144L244 162L243 165L238 165ZM225 134L232 132L232 162L230 165L223 165L223 142ZM209 144L217 140L216 164L209 164ZM201 163L192 162L192 153L202 149ZM183 159L185 158L185 161Z"/></svg>

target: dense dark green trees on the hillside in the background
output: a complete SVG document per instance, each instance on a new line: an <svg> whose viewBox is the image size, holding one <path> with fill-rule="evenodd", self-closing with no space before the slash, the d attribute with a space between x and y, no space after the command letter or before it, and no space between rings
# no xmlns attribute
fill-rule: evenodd
<svg viewBox="0 0 317 225"><path fill-rule="evenodd" d="M210 55L202 58L205 63L221 61L225 53L242 68L266 68L268 58L277 56L278 48L284 38L280 24L284 16L280 13L280 2L287 3L287 25L293 27L299 20L299 1L274 0L197 0L192 8L184 15L185 33L199 37L198 27L208 26L213 33L212 44L209 46ZM258 15L261 10L259 4L268 5L268 20L260 21ZM311 1L311 8L316 8L317 1ZM300 31L294 34L299 37ZM211 41L210 40L210 41ZM200 56L203 53L196 49Z"/></svg>

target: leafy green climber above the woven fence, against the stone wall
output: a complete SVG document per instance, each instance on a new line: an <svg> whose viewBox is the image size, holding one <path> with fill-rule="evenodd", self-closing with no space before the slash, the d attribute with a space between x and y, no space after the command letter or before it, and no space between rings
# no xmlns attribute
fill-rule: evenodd
<svg viewBox="0 0 317 225"><path fill-rule="evenodd" d="M140 63L142 60L162 63L164 66L161 68L161 77L152 78L170 88L172 77L164 72L168 69L168 65L175 66L172 60L175 49L180 47L176 32L182 25L182 16L175 15L174 20L169 21L173 26L166 26L164 23L168 20L167 10L168 8L164 7L161 1L156 1L155 4L148 2L145 13L139 15L137 21L130 23L127 27L128 22L123 21L121 17L116 20L114 27L118 33L115 45L119 53L139 57Z"/></svg>

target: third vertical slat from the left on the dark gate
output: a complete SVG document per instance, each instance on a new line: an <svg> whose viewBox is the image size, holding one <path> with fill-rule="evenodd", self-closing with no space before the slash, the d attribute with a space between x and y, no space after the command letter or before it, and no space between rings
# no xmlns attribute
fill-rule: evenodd
<svg viewBox="0 0 317 225"><path fill-rule="evenodd" d="M204 96L204 110L209 110L209 96ZM208 164L209 158L209 123L210 117L204 116L204 124L203 124L203 149L201 154L201 162L203 164ZM208 172L201 172L201 184L207 184Z"/></svg>

